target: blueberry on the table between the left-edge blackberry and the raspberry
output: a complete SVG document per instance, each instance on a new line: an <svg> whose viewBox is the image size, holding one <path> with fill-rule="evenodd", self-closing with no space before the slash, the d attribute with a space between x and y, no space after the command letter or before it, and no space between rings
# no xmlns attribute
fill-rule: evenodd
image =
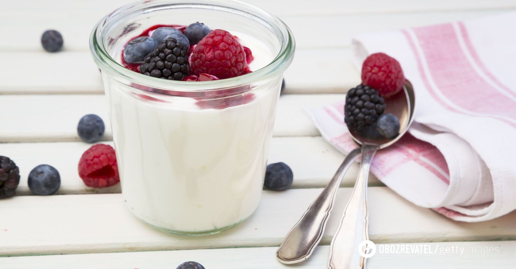
<svg viewBox="0 0 516 269"><path fill-rule="evenodd" d="M51 195L59 190L61 177L53 166L40 164L30 171L28 185L36 195Z"/></svg>

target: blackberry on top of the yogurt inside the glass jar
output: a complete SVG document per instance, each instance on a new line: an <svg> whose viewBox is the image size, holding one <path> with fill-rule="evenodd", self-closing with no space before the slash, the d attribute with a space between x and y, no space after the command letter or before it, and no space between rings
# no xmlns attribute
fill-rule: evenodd
<svg viewBox="0 0 516 269"><path fill-rule="evenodd" d="M167 38L145 56L140 72L151 77L182 80L190 74L187 52L178 40Z"/></svg>

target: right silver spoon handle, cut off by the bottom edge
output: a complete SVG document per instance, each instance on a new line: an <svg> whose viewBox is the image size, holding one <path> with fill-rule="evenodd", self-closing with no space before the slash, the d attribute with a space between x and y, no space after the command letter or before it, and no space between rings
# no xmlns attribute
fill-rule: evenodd
<svg viewBox="0 0 516 269"><path fill-rule="evenodd" d="M331 241L328 268L363 269L366 258L359 254L362 241L369 240L369 213L367 211L367 178L369 167L377 150L376 146L362 146L362 163L357 182L344 209L341 223ZM362 253L368 254L362 246Z"/></svg>

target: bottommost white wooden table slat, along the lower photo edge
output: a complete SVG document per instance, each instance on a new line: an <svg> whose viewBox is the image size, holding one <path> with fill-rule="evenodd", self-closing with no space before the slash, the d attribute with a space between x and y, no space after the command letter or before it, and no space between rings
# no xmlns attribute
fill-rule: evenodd
<svg viewBox="0 0 516 269"><path fill-rule="evenodd" d="M419 247L418 243L406 244L409 247ZM483 269L513 268L516 251L516 241L502 242L439 242L424 243L428 246L427 253L398 253L390 254L380 252L380 248L391 247L388 244L376 244L376 254L367 259L369 269L413 269L424 266L428 269L462 268ZM452 247L465 247L462 255L449 253L439 255ZM465 253L465 249L470 249ZM478 248L487 248L488 255L472 253ZM489 254L489 249L492 253ZM305 262L284 265L276 260L277 247L249 247L249 248L222 248L222 249L195 249L195 250L171 250L171 251L146 251L136 253L103 253L103 254L76 254L76 255L50 255L50 256L26 256L0 258L0 264L5 269L127 269L127 268L153 268L169 269L174 268L185 261L195 260L205 268L228 268L228 269L263 269L263 268L306 268L320 269L326 267L328 260L329 246L319 246L314 255ZM437 250L437 251L436 251ZM407 252L407 251L405 251Z"/></svg>

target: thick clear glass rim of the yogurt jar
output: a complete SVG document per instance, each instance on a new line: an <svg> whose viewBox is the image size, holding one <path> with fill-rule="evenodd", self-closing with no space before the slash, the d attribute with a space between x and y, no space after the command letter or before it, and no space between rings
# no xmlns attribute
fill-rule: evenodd
<svg viewBox="0 0 516 269"><path fill-rule="evenodd" d="M273 76L279 73L283 73L285 69L290 65L292 59L294 57L295 51L295 41L294 36L292 35L292 31L276 16L268 13L267 11L257 8L253 5L240 2L237 0L224 0L224 1L212 1L212 0L193 0L189 1L189 3L182 2L184 0L151 0L146 2L138 2L133 4L128 4L123 7L118 8L117 10L106 15L102 20L100 20L90 35L90 51L93 55L93 59L95 63L99 66L102 72L108 72L110 75L120 76L124 79L130 80L133 83L137 83L138 85L168 90L173 89L174 91L206 91L213 89L224 89L224 88L232 88L238 87L242 85L248 85L253 81L262 79L263 77ZM118 61L113 59L108 53L102 42L102 33L104 27L109 23L109 21L117 20L120 17L123 17L124 14L131 13L133 9L140 7L141 5L151 5L151 4L160 4L163 5L167 3L168 5L178 5L184 7L199 7L199 6L210 6L211 8L219 8L222 10L238 10L240 12L249 13L253 16L258 16L260 19L268 23L268 28L273 27L276 31L275 33L279 33L281 37L281 48L278 55L273 59L269 64L264 66L263 68L253 71L249 74L220 79L220 80L212 80L212 81L197 81L195 82L195 89L192 89L192 82L188 81L176 81L176 80L165 80L161 78L150 77L146 75L142 75L140 73L131 71L129 69L124 68ZM152 7L152 6L150 6Z"/></svg>

